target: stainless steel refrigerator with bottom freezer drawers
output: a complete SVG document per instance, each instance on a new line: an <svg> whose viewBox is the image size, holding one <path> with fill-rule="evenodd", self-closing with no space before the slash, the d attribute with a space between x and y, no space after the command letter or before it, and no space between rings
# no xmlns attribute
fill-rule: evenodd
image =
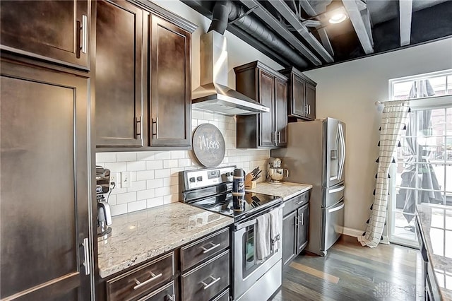
<svg viewBox="0 0 452 301"><path fill-rule="evenodd" d="M287 148L271 151L287 182L312 184L307 251L325 256L344 225L345 124L326 118L287 125Z"/></svg>

